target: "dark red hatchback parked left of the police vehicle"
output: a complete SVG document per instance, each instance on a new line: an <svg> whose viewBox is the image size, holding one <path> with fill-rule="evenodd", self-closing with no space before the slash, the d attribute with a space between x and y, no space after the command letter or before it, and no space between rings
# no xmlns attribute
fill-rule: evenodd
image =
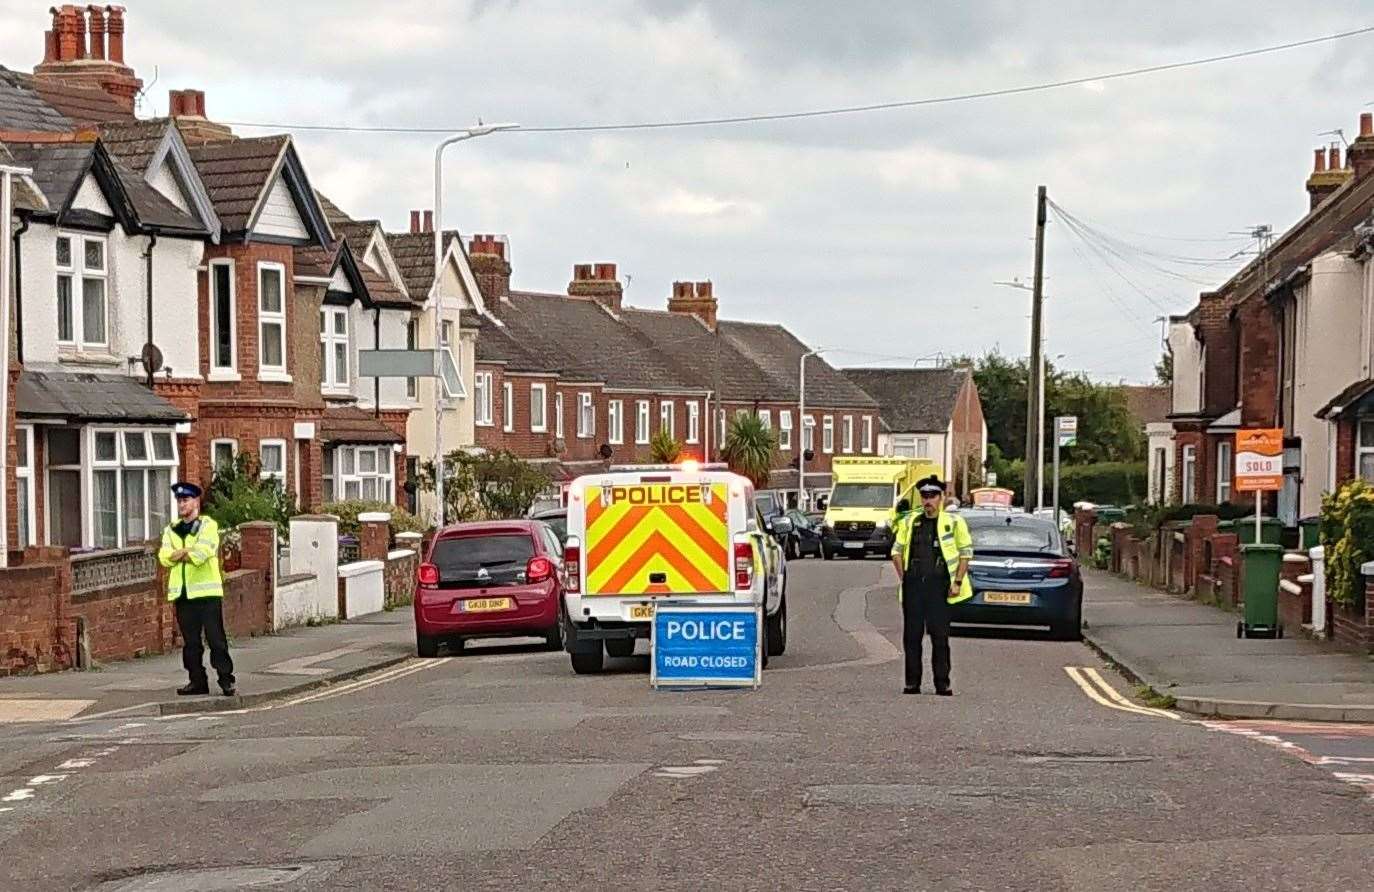
<svg viewBox="0 0 1374 892"><path fill-rule="evenodd" d="M430 543L415 587L415 649L438 654L469 638L539 636L563 646L562 546L541 521L481 521L445 528Z"/></svg>

